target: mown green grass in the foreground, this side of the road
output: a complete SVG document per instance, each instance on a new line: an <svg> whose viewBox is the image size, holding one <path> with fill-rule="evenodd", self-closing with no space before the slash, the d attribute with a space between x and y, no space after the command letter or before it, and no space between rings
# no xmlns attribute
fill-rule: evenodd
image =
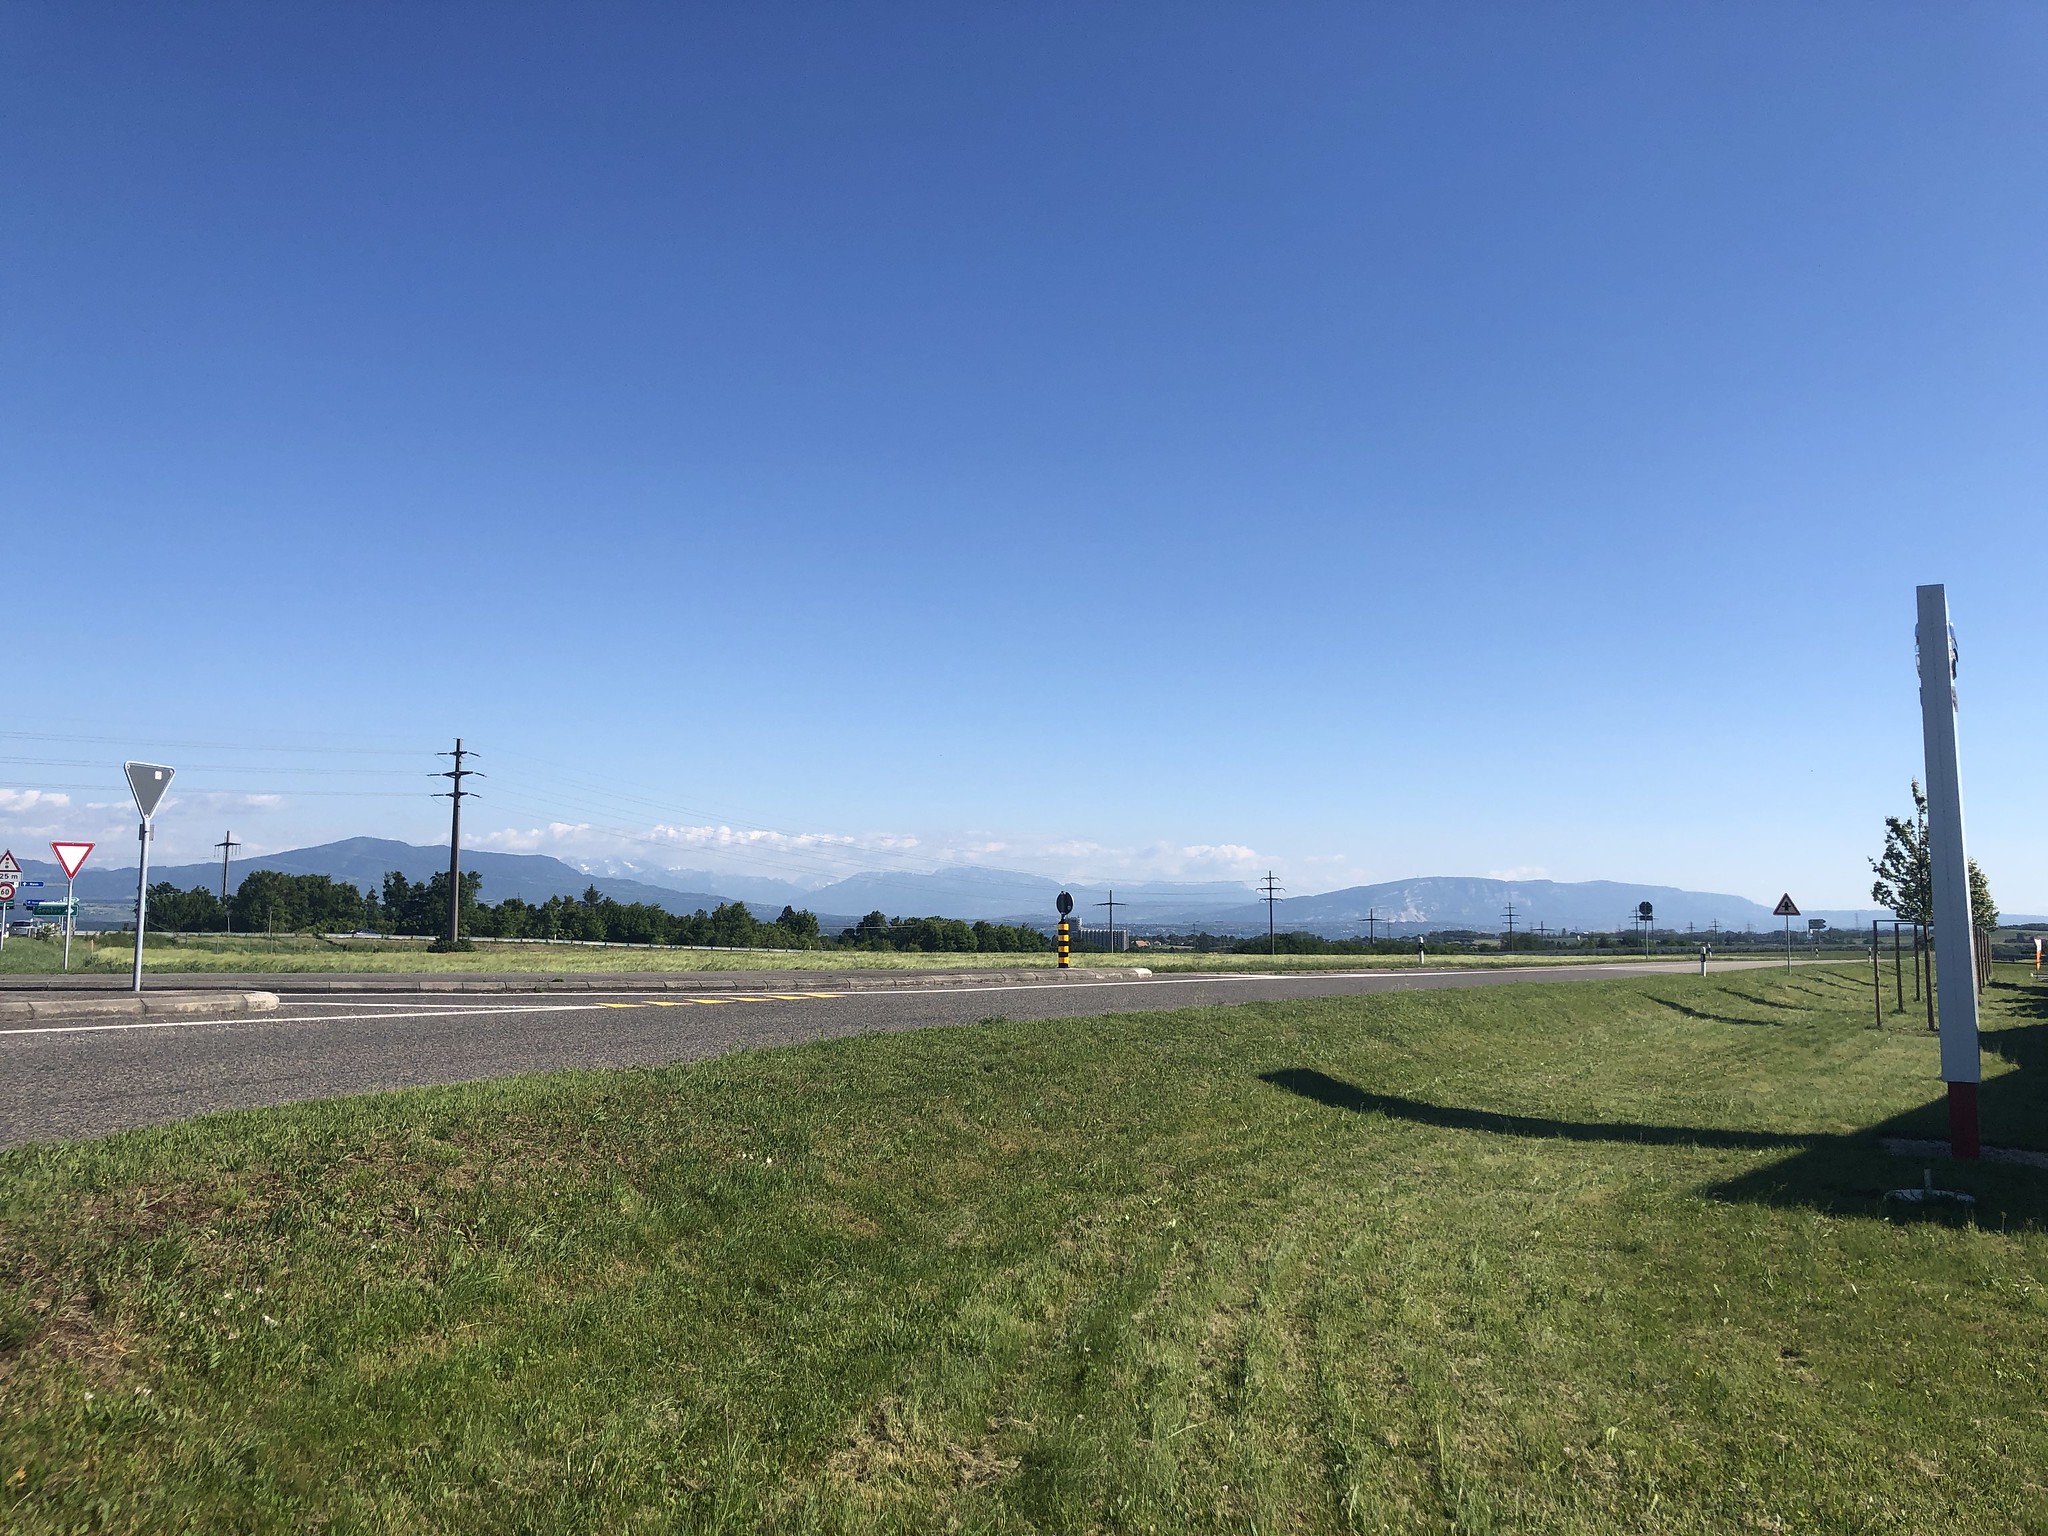
<svg viewBox="0 0 2048 1536"><path fill-rule="evenodd" d="M0 1153L0 1524L2038 1532L2048 1171L1855 971L872 1036ZM1987 1141L2048 1147L2001 975Z"/></svg>

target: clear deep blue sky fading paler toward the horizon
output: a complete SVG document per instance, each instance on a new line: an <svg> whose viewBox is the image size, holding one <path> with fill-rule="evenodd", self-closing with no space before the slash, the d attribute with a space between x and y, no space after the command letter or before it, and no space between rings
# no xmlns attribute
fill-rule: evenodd
<svg viewBox="0 0 2048 1536"><path fill-rule="evenodd" d="M2048 10L0 2L0 840L2048 911Z"/></svg>

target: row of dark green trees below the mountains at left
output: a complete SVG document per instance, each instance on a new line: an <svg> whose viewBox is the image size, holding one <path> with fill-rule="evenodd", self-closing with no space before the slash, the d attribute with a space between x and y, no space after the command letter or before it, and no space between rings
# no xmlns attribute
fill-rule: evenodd
<svg viewBox="0 0 2048 1536"><path fill-rule="evenodd" d="M471 938L567 938L608 944L690 944L711 948L870 948L926 952L1040 952L1053 942L1036 928L967 924L954 918L889 918L870 911L856 926L827 936L817 913L782 907L760 922L745 903L721 901L705 911L668 911L645 901L614 901L590 887L582 897L543 903L506 897L479 901L483 877L465 872L457 893L463 934ZM449 877L408 881L399 870L381 891L365 893L328 874L250 870L221 903L215 891L180 891L168 881L150 887L150 924L160 932L219 934L416 934L449 932Z"/></svg>

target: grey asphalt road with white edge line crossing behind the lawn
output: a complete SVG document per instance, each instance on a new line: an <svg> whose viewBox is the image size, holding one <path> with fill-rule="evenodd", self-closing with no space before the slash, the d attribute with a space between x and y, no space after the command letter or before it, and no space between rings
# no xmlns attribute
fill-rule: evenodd
<svg viewBox="0 0 2048 1536"><path fill-rule="evenodd" d="M1749 969L1767 961L1729 961ZM1688 973L1696 961L1114 985L975 983L821 991L526 997L301 993L274 1014L61 1020L0 1030L0 1145L92 1137L209 1110L287 1104L559 1067L653 1067L764 1044L938 1024L1130 1014L1417 987Z"/></svg>

